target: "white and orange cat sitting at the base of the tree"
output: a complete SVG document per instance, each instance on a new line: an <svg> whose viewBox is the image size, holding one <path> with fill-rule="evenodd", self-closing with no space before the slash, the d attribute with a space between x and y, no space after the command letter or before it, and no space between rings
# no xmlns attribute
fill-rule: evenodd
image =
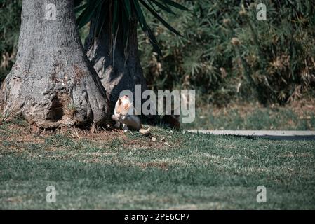
<svg viewBox="0 0 315 224"><path fill-rule="evenodd" d="M141 134L149 134L150 129L143 129L140 118L135 116L135 109L133 108L133 104L130 103L128 96L119 97L115 105L112 119L116 121L116 128L119 128L121 124L123 125L124 132L127 132L129 127L139 131Z"/></svg>

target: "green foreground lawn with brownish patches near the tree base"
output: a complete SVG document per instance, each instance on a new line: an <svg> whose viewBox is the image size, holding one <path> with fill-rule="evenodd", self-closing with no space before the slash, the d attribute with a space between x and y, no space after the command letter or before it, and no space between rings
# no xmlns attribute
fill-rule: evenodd
<svg viewBox="0 0 315 224"><path fill-rule="evenodd" d="M315 209L315 142L0 125L0 209ZM46 202L55 186L56 203ZM256 202L257 186L267 202Z"/></svg>

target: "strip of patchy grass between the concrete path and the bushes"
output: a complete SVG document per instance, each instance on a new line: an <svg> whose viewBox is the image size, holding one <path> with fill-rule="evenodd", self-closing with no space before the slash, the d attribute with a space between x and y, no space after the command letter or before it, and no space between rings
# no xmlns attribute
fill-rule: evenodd
<svg viewBox="0 0 315 224"><path fill-rule="evenodd" d="M237 103L224 108L203 106L196 109L194 123L187 129L199 130L315 130L315 101L286 106Z"/></svg>

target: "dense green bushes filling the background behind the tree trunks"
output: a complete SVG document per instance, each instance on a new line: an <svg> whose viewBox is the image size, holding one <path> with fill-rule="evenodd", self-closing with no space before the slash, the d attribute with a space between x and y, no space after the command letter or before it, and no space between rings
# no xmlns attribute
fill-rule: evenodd
<svg viewBox="0 0 315 224"><path fill-rule="evenodd" d="M194 89L203 102L220 105L234 99L283 104L314 97L313 1L177 2L189 12L174 9L177 15L172 15L158 7L156 11L182 38L143 10L163 52L163 57L154 53L139 27L140 55L149 87ZM267 6L267 21L256 18L256 5L261 2ZM1 81L14 61L21 1L2 0L0 5Z"/></svg>

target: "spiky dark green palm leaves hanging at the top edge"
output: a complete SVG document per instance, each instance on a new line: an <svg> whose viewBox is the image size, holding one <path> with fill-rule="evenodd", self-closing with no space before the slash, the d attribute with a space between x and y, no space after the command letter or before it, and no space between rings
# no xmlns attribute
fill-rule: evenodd
<svg viewBox="0 0 315 224"><path fill-rule="evenodd" d="M108 1L107 4L105 2ZM86 3L83 3L86 2ZM76 7L76 12L80 13L77 18L78 28L80 29L88 22L91 21L91 18L96 18L95 29L97 29L94 34L97 37L102 30L103 25L106 21L106 15L109 12L112 21L112 33L113 35L118 33L119 29L123 29L123 42L124 44L128 41L128 24L131 19L131 15L135 13L135 16L142 28L142 31L149 37L149 42L151 43L154 51L158 52L159 55L162 55L159 48L159 43L156 40L152 30L147 25L145 20L145 15L142 12L142 7L146 8L149 13L152 13L154 17L159 20L167 29L173 33L181 36L180 32L174 29L172 26L166 22L159 13L157 13L154 6L161 10L165 10L168 13L175 15L173 10L170 7L177 8L180 10L188 10L185 6L180 5L172 0L74 0L74 5ZM112 6L112 7L110 7ZM121 27L121 28L119 28ZM126 47L125 45L125 47Z"/></svg>

